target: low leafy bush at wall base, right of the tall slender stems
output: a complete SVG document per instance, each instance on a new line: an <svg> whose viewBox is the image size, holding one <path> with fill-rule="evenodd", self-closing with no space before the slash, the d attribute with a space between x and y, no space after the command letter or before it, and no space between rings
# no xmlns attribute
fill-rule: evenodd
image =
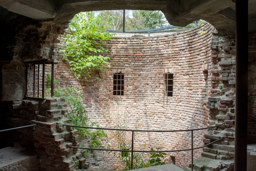
<svg viewBox="0 0 256 171"><path fill-rule="evenodd" d="M161 148L163 148L163 147L156 147L157 150L161 150ZM151 148L150 151L155 151L155 150L153 150L153 148ZM163 152L150 153L150 156L149 156L150 160L148 160L146 167L164 165L166 159L164 161L161 160L161 158L164 158L164 155L166 155L166 153L163 153Z"/></svg>

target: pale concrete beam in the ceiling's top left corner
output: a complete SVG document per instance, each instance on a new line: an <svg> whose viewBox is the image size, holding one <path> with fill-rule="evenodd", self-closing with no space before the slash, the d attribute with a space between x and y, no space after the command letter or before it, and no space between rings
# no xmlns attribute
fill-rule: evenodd
<svg viewBox="0 0 256 171"><path fill-rule="evenodd" d="M55 16L53 4L48 0L0 0L0 6L32 19L52 19Z"/></svg>

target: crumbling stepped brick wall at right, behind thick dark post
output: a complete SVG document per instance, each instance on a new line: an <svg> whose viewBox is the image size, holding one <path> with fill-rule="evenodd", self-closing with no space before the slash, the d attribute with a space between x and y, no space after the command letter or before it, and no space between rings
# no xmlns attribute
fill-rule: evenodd
<svg viewBox="0 0 256 171"><path fill-rule="evenodd" d="M217 35L213 32L211 44L211 75L212 86L208 98L209 124L225 123L220 128L212 129L205 135L204 143L208 144L219 138L224 141L204 148L202 156L213 159L233 159L235 144L235 95L236 95L236 40L233 36ZM248 65L248 144L255 143L255 34L249 35Z"/></svg>

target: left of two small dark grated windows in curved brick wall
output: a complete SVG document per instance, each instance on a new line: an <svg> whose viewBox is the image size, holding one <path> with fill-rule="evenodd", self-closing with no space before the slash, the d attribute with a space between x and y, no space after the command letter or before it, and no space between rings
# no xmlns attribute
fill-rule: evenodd
<svg viewBox="0 0 256 171"><path fill-rule="evenodd" d="M121 72L114 74L113 95L114 96L124 95L124 74L122 74Z"/></svg>

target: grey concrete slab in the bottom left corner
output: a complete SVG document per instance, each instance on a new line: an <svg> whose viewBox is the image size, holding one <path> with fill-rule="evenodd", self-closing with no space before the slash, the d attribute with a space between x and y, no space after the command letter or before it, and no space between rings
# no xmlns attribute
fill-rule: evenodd
<svg viewBox="0 0 256 171"><path fill-rule="evenodd" d="M38 171L38 155L21 147L0 149L0 171Z"/></svg>

